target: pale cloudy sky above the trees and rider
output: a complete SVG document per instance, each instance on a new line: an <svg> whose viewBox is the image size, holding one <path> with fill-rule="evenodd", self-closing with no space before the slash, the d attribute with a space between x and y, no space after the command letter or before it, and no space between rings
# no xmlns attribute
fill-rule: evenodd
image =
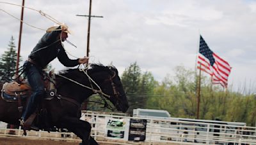
<svg viewBox="0 0 256 145"><path fill-rule="evenodd" d="M22 0L2 1L22 4ZM54 24L41 10L68 25L72 35L64 43L70 59L86 55L89 0L26 0L20 55L26 60L45 31ZM0 3L0 54L11 36L19 40L21 8ZM4 11L3 11L4 10ZM141 71L150 71L157 81L175 76L175 67L195 70L200 34L211 50L232 67L228 84L234 91L256 93L256 1L252 0L108 0L92 1L90 62L112 64L120 74L137 62ZM40 29L36 29L38 27ZM73 57L74 56L74 57ZM65 68L58 59L56 70ZM206 74L205 74L206 75ZM243 90L244 91L244 90Z"/></svg>

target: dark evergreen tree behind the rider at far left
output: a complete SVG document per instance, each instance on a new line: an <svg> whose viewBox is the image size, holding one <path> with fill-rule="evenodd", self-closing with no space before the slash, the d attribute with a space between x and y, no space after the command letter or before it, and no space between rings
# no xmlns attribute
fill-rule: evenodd
<svg viewBox="0 0 256 145"><path fill-rule="evenodd" d="M12 36L7 51L4 52L0 59L0 76L2 77L2 81L12 81L12 76L15 74L17 62L15 48L16 46ZM22 60L20 59L20 61Z"/></svg>

